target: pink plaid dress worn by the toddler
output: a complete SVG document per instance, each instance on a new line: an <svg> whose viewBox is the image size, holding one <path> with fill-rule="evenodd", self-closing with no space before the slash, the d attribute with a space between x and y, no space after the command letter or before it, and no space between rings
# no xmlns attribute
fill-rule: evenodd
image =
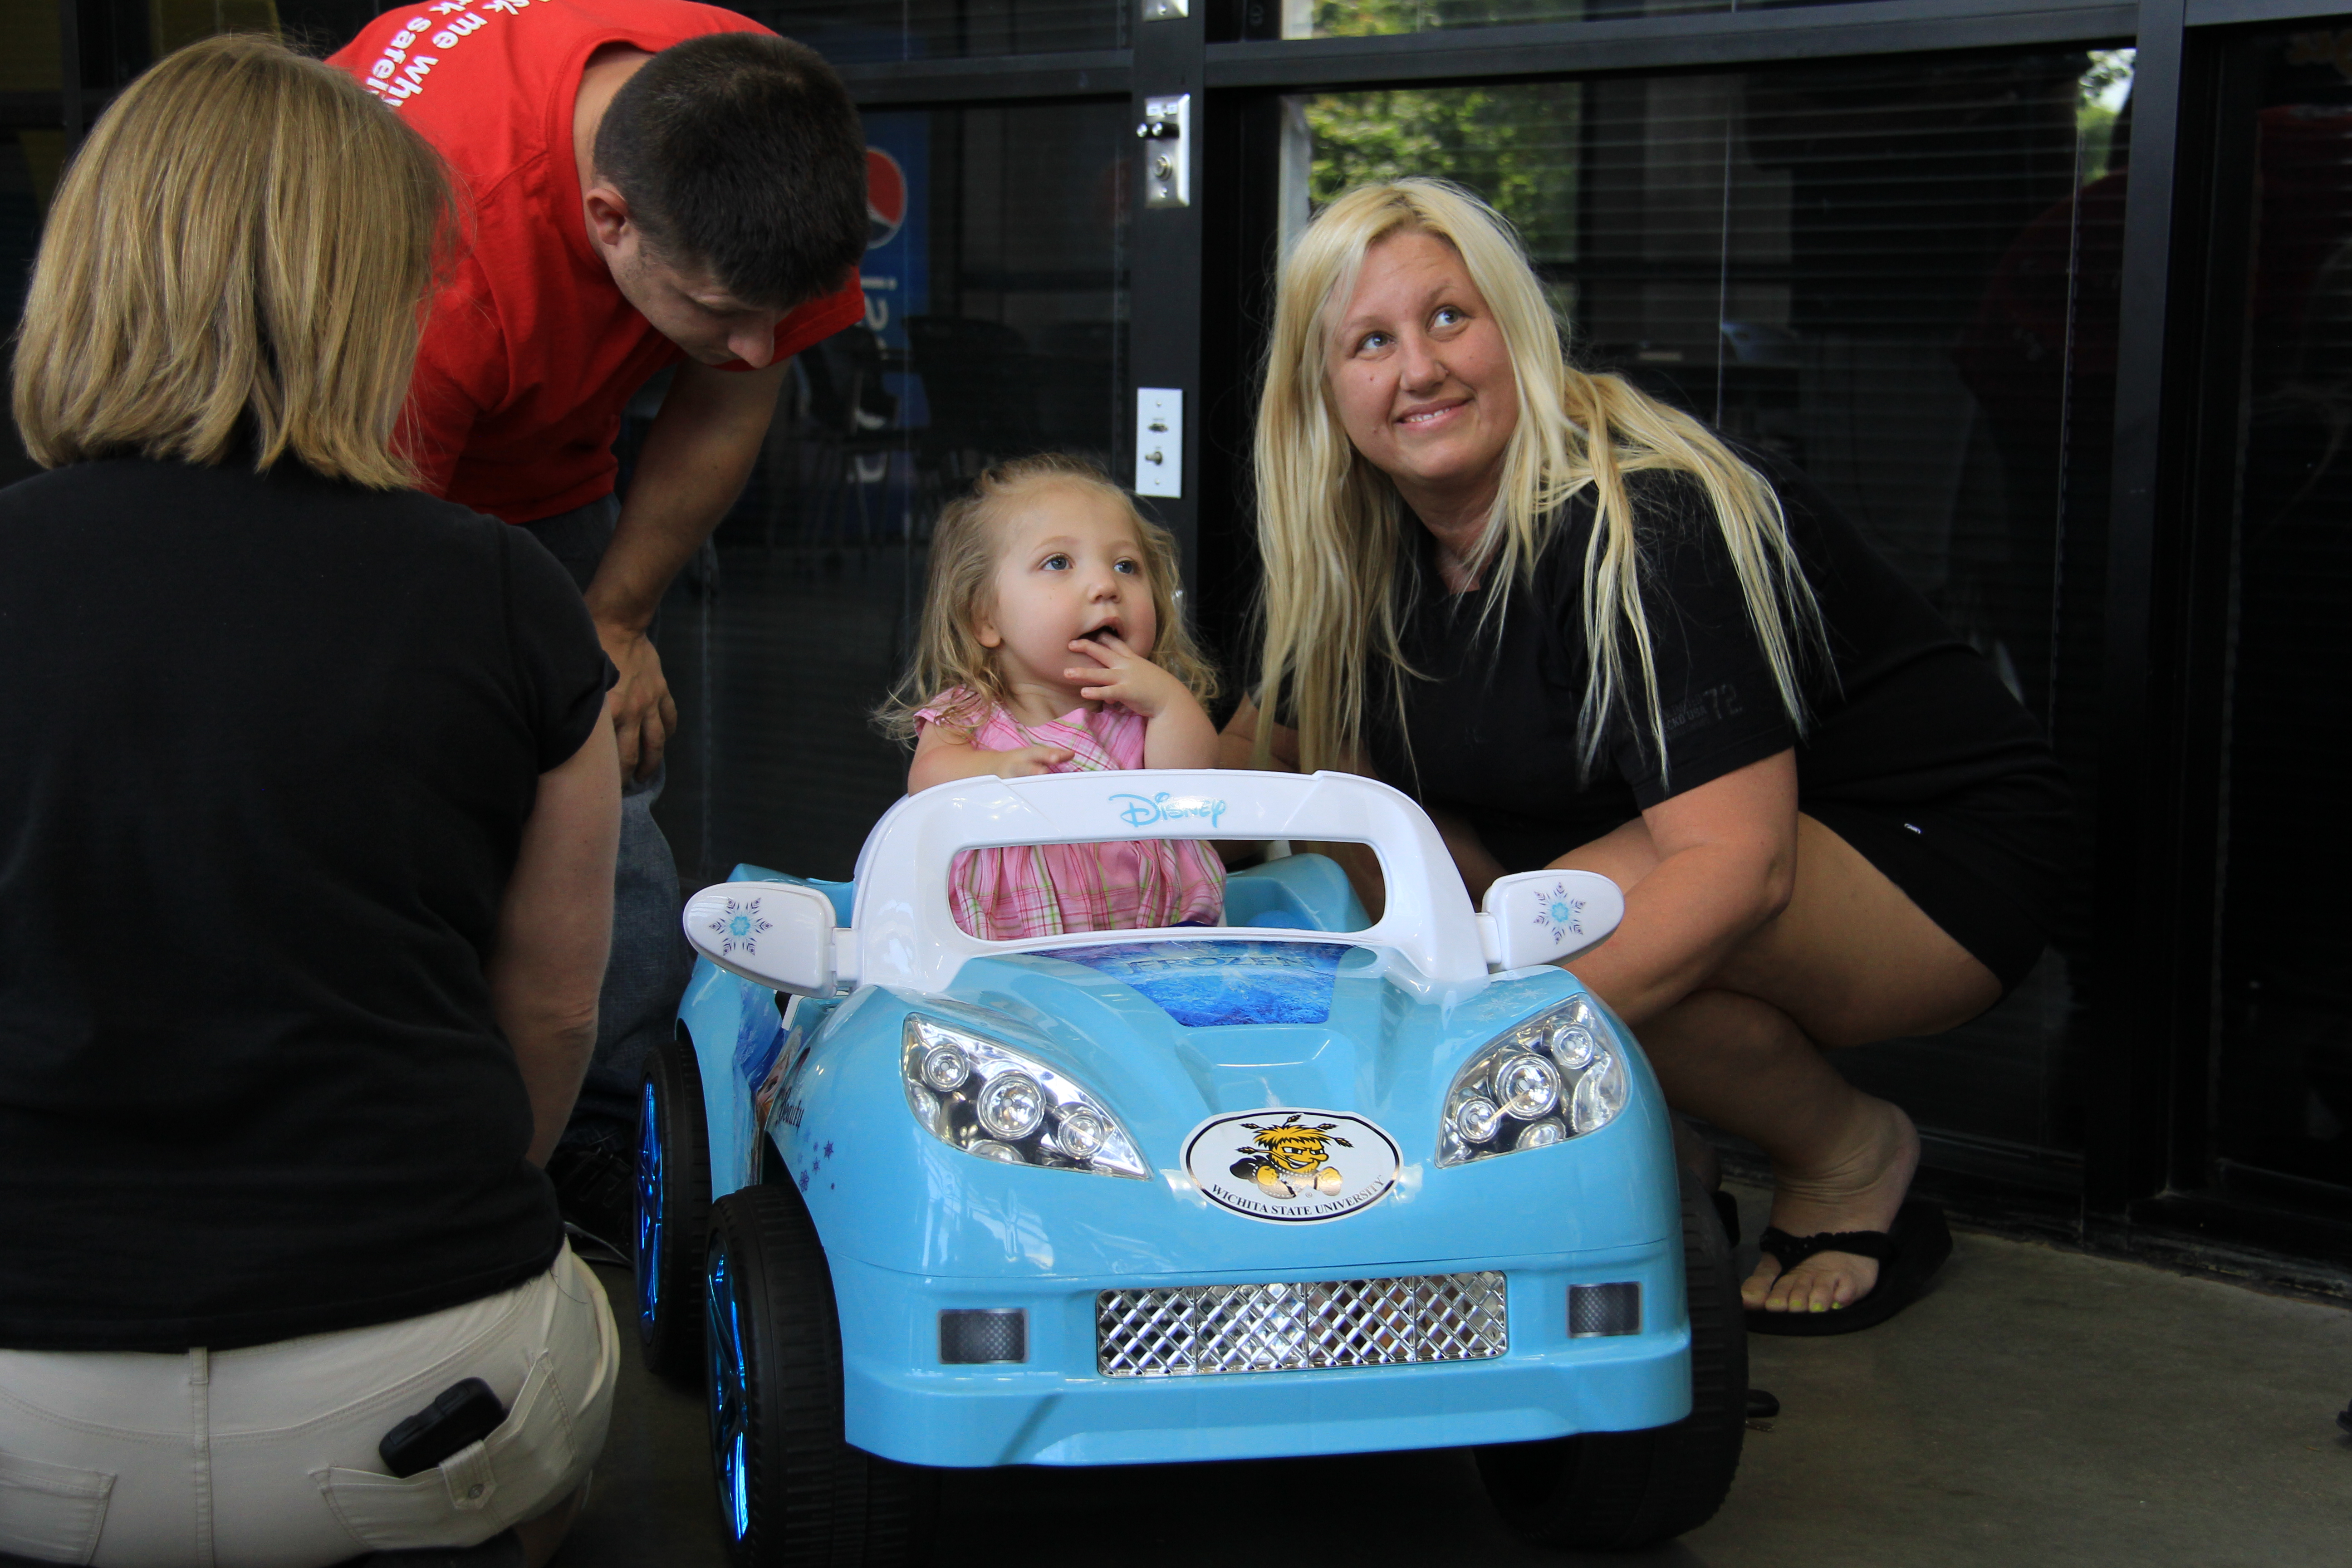
<svg viewBox="0 0 2352 1568"><path fill-rule="evenodd" d="M1143 715L1117 703L1105 703L1098 712L1077 708L1047 724L1021 724L955 686L917 712L915 722L971 729L974 745L993 752L1065 745L1075 757L1056 766L1056 773L1143 766ZM948 905L957 926L990 943L1138 926L1214 926L1225 914L1225 867L1214 849L1195 839L967 849L948 867Z"/></svg>

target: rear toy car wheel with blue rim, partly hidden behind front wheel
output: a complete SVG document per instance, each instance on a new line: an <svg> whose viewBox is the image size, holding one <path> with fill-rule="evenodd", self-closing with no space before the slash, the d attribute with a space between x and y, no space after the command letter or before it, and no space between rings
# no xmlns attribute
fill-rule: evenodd
<svg viewBox="0 0 2352 1568"><path fill-rule="evenodd" d="M710 1138L694 1044L670 1039L644 1060L637 1095L637 1345L673 1382L703 1366L703 1229L710 1222Z"/></svg>

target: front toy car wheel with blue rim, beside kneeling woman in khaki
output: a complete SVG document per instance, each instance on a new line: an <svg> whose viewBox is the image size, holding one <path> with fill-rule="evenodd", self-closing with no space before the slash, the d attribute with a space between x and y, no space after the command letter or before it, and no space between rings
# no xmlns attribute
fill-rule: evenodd
<svg viewBox="0 0 2352 1568"><path fill-rule="evenodd" d="M790 1187L710 1208L710 1467L736 1568L920 1556L931 1476L842 1441L842 1335L816 1225Z"/></svg>

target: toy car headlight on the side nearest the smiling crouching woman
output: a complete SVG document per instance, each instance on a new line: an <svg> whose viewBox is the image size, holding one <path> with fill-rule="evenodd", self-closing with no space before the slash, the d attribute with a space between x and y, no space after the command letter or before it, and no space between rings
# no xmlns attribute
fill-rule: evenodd
<svg viewBox="0 0 2352 1568"><path fill-rule="evenodd" d="M1585 997L1486 1041L1454 1074L1437 1164L1541 1150L1609 1126L1625 1110L1625 1051Z"/></svg>

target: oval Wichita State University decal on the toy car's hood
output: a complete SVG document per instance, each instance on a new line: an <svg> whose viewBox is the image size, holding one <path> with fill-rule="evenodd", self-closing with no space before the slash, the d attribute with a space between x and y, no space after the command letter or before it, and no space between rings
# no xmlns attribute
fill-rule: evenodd
<svg viewBox="0 0 2352 1568"><path fill-rule="evenodd" d="M1211 1117L1183 1145L1183 1168L1211 1204L1275 1225L1369 1208L1397 1185L1397 1164L1395 1138L1336 1110Z"/></svg>

